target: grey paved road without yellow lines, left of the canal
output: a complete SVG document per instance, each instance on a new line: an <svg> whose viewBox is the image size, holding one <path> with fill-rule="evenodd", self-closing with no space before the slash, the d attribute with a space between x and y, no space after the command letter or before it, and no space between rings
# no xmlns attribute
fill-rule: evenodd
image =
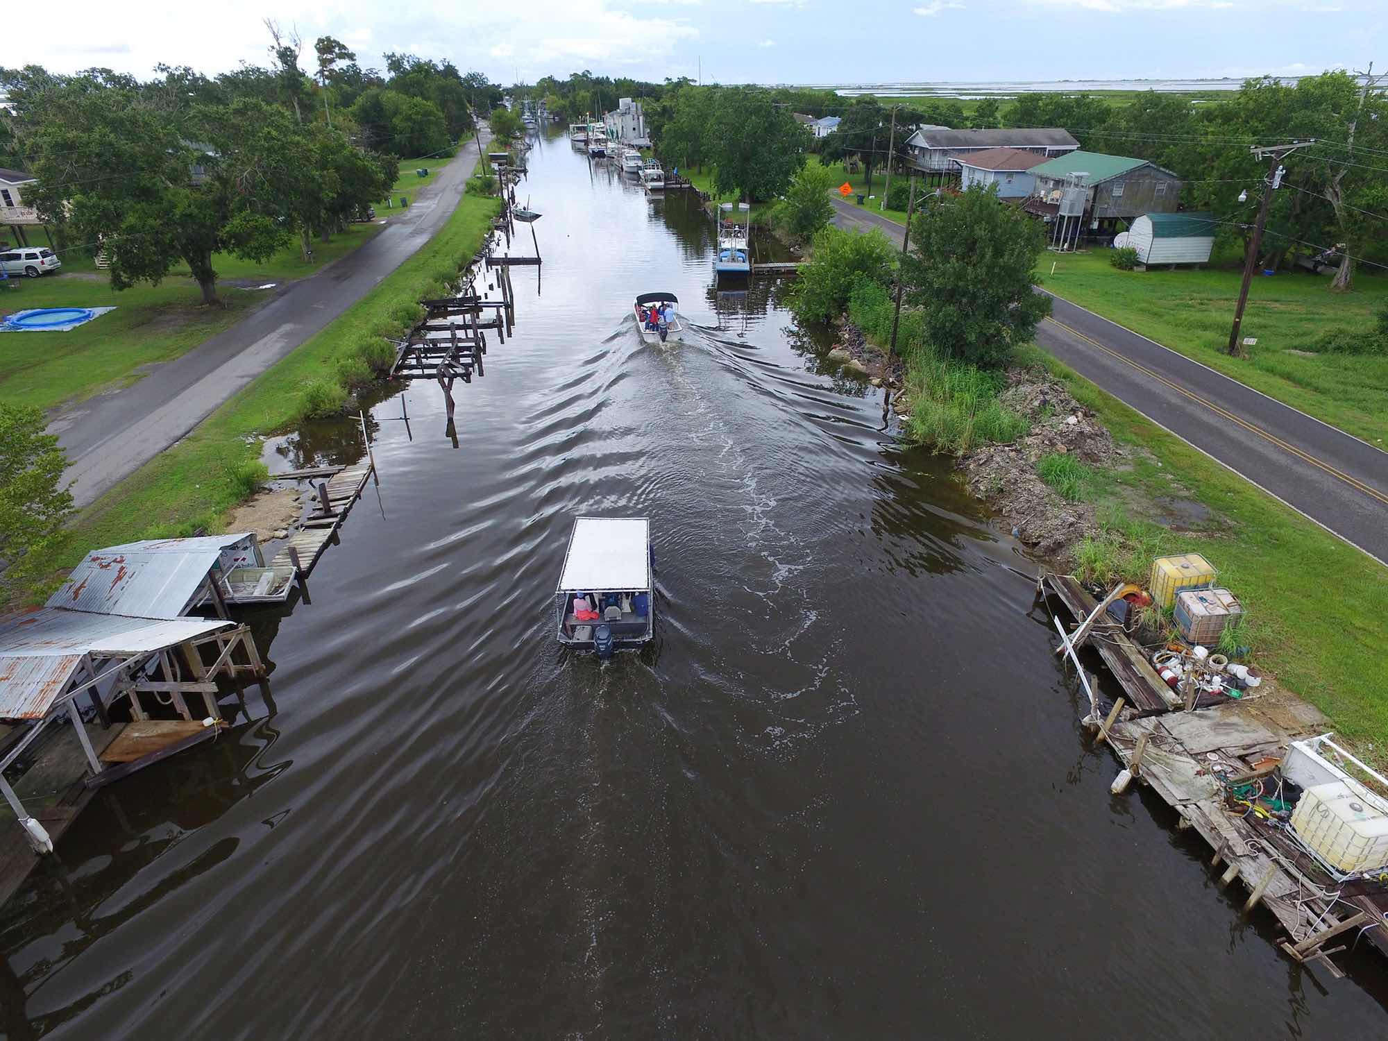
<svg viewBox="0 0 1388 1041"><path fill-rule="evenodd" d="M477 164L468 143L403 217L359 250L285 285L265 307L125 390L89 398L49 426L68 452L78 505L187 434L212 409L357 303L448 219ZM397 212L397 211L390 211ZM225 289L228 293L243 290Z"/></svg>

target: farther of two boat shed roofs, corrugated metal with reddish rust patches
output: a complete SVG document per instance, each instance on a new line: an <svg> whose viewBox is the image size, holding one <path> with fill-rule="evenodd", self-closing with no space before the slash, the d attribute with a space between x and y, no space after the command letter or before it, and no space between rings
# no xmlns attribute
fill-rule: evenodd
<svg viewBox="0 0 1388 1041"><path fill-rule="evenodd" d="M49 607L130 618L178 618L217 564L221 550L96 550L89 552Z"/></svg>

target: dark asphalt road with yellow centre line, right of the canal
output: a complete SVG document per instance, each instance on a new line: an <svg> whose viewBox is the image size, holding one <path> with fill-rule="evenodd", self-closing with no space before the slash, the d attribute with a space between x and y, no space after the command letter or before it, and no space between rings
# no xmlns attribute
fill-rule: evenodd
<svg viewBox="0 0 1388 1041"><path fill-rule="evenodd" d="M834 200L840 228L902 228ZM1040 290L1038 290L1040 291ZM1120 401L1388 564L1388 452L1052 296L1037 343Z"/></svg>

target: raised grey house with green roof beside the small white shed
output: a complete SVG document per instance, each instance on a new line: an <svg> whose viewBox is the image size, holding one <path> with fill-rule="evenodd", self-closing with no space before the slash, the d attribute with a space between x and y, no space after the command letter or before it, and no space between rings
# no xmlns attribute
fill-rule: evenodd
<svg viewBox="0 0 1388 1041"><path fill-rule="evenodd" d="M1146 160L1072 151L1033 167L1035 192L1027 211L1055 217L1066 187L1085 192L1084 215L1090 230L1113 228L1142 214L1174 212L1181 201L1181 179Z"/></svg>

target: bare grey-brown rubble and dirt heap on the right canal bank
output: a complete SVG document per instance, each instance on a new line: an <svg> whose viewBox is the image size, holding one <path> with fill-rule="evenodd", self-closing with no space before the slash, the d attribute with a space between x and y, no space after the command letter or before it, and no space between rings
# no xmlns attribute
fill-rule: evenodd
<svg viewBox="0 0 1388 1041"><path fill-rule="evenodd" d="M1060 498L1037 475L1037 461L1065 454L1097 466L1113 464L1122 452L1094 412L1044 369L1009 369L999 401L1026 416L1031 429L1012 444L987 444L962 455L965 482L1012 525L1023 544L1069 565L1070 547L1098 530L1094 508Z"/></svg>

